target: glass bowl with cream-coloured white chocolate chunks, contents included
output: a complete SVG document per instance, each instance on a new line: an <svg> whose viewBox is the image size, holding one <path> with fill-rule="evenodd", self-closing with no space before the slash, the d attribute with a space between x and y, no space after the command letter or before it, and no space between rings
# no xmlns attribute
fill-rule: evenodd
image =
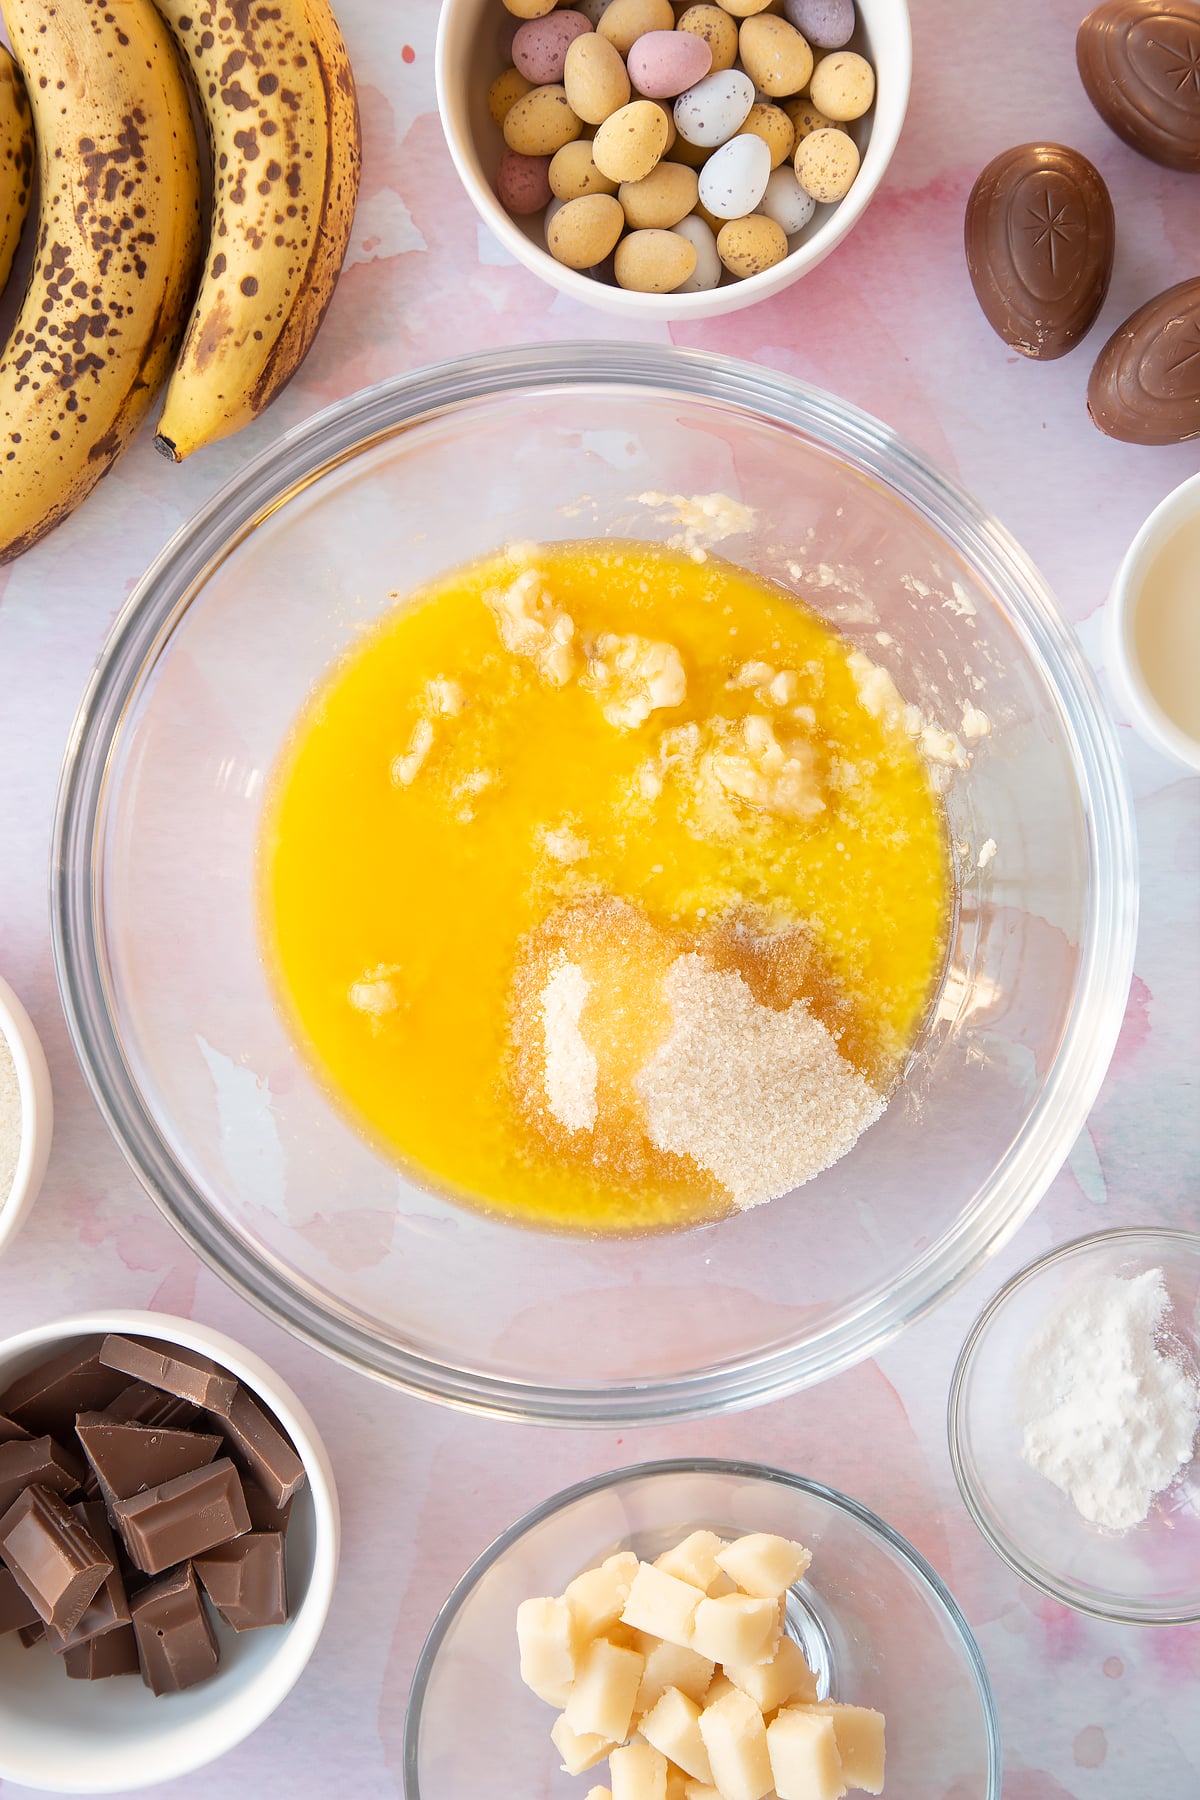
<svg viewBox="0 0 1200 1800"><path fill-rule="evenodd" d="M999 1800L1000 1739L966 1620L883 1519L781 1469L658 1462L536 1507L434 1624L405 1795L498 1771L538 1800Z"/></svg>

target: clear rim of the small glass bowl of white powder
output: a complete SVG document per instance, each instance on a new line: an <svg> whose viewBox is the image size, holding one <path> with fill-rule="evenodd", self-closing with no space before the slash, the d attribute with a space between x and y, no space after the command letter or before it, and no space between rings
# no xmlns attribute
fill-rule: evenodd
<svg viewBox="0 0 1200 1800"><path fill-rule="evenodd" d="M1085 1597L1083 1591L1067 1582L1056 1582L1047 1571L1042 1570L1040 1564L1022 1557L1016 1539L1011 1535L1002 1537L993 1528L968 1469L964 1451L968 1411L966 1388L975 1363L975 1354L988 1332L988 1327L1004 1310L1013 1294L1016 1294L1029 1282L1034 1282L1040 1274L1052 1269L1060 1262L1072 1262L1076 1258L1083 1260L1099 1247L1126 1244L1133 1249L1137 1244L1160 1244L1164 1240L1191 1249L1200 1260L1200 1231L1187 1231L1184 1226L1112 1226L1105 1231L1088 1231L1085 1237L1072 1238L1069 1244L1056 1244L1054 1249L1043 1251L1042 1256L1034 1256L1020 1267L1016 1274L1011 1274L979 1312L975 1323L963 1339L963 1348L959 1350L959 1357L954 1364L954 1375L950 1377L950 1393L946 1397L946 1438L950 1442L954 1478L959 1485L963 1505L970 1512L984 1543L995 1550L1000 1561L1006 1562L1015 1575L1020 1575L1020 1579L1029 1582L1031 1588L1043 1593L1047 1600L1061 1600L1061 1604L1069 1606L1074 1613L1083 1613L1088 1618L1101 1618L1114 1625L1193 1625L1200 1620L1200 1584L1196 1586L1195 1600L1186 1602L1182 1609L1148 1609L1121 1602L1105 1604L1099 1598Z"/></svg>

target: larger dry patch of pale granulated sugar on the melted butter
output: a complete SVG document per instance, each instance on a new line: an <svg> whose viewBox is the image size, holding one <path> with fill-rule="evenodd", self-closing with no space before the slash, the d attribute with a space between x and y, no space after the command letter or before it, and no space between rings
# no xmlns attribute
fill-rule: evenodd
<svg viewBox="0 0 1200 1800"><path fill-rule="evenodd" d="M637 1078L649 1138L712 1170L738 1206L810 1181L883 1111L801 1001L759 1006L702 956L680 956L662 986L671 1031Z"/></svg>

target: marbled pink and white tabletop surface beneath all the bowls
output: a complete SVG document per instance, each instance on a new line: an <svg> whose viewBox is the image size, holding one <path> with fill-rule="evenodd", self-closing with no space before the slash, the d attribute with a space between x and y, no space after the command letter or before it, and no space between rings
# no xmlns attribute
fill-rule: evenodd
<svg viewBox="0 0 1200 1800"><path fill-rule="evenodd" d="M47 859L76 704L117 607L166 538L282 427L466 349L675 338L819 382L916 439L1000 517L1101 666L1119 556L1150 508L1196 470L1200 446L1101 437L1083 403L1090 355L1135 304L1200 272L1200 184L1142 162L1092 113L1074 72L1078 0L912 0L909 126L855 236L750 311L685 333L621 328L556 299L479 227L434 113L435 0L336 4L362 81L365 180L349 266L308 365L266 419L185 468L167 468L142 439L70 524L0 571L0 972L40 1026L58 1098L41 1202L0 1265L0 1330L104 1303L207 1319L300 1390L342 1483L342 1579L308 1674L254 1739L160 1791L401 1795L408 1676L466 1564L567 1481L707 1453L781 1462L842 1487L932 1559L991 1670L1006 1800L1191 1800L1200 1627L1094 1624L1009 1575L959 1503L945 1397L972 1318L1022 1262L1103 1226L1200 1226L1200 781L1123 729L1142 864L1137 976L1088 1127L1016 1242L878 1363L734 1418L622 1435L479 1422L389 1393L295 1345L201 1269L110 1143L76 1067L50 967ZM1092 157L1117 211L1101 322L1085 349L1043 367L990 333L961 252L973 176L995 151L1038 135ZM25 1793L0 1786L4 1800ZM498 1771L497 1793L516 1796L513 1771Z"/></svg>

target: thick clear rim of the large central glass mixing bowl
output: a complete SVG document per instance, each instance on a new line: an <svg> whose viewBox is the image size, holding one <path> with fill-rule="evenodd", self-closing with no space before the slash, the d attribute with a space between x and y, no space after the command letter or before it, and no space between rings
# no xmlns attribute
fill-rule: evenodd
<svg viewBox="0 0 1200 1800"><path fill-rule="evenodd" d="M1088 826L1088 932L1065 1042L1020 1134L955 1226L889 1283L887 1309L873 1298L804 1345L747 1352L685 1375L556 1388L381 1343L313 1300L266 1251L246 1249L207 1206L144 1105L113 1026L95 846L108 763L128 706L200 581L281 497L423 419L563 387L667 394L802 432L878 481L957 554L973 560L1036 662L1070 747ZM392 376L304 419L234 473L175 533L117 614L68 738L50 853L54 968L85 1080L142 1186L200 1258L277 1325L367 1375L468 1411L572 1426L691 1418L761 1404L876 1354L966 1282L1033 1211L1083 1125L1124 1017L1135 927L1133 815L1115 731L1081 648L1007 531L891 427L822 389L707 351L603 340L471 355ZM999 1197L1007 1204L997 1217Z"/></svg>

